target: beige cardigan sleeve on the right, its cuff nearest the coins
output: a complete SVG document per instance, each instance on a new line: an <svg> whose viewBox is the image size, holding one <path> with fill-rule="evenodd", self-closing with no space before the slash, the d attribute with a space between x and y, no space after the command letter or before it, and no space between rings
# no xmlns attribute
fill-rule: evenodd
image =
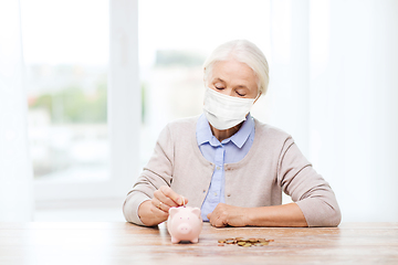
<svg viewBox="0 0 398 265"><path fill-rule="evenodd" d="M337 226L342 214L329 184L318 174L289 137L279 159L277 178L283 191L302 210L308 226Z"/></svg>

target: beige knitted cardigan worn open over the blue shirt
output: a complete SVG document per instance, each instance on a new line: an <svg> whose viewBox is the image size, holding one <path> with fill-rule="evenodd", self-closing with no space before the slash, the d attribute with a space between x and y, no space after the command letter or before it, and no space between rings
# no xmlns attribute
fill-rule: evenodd
<svg viewBox="0 0 398 265"><path fill-rule="evenodd" d="M200 208L210 187L214 165L201 155L197 139L198 117L166 126L154 155L127 194L126 220L143 224L138 206L160 186L169 186ZM308 226L336 226L341 211L328 183L313 169L292 137L254 119L255 136L248 155L227 163L226 203L244 208L279 205L282 191L302 210Z"/></svg>

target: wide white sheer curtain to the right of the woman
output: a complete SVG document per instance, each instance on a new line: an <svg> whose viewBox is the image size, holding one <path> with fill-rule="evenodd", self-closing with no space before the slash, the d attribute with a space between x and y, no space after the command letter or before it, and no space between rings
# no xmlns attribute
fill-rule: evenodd
<svg viewBox="0 0 398 265"><path fill-rule="evenodd" d="M272 0L270 124L331 183L343 221L398 221L398 1Z"/></svg>

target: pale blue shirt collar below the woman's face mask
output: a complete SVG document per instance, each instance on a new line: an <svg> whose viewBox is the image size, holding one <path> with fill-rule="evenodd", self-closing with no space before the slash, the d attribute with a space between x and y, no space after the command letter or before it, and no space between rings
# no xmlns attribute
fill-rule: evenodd
<svg viewBox="0 0 398 265"><path fill-rule="evenodd" d="M247 116L242 127L230 138L222 140L222 144L232 141L237 147L242 148L244 142L249 139L249 136L254 127L254 120L250 113ZM207 120L205 114L202 114L197 123L197 140L198 145L201 146L205 142L209 142L211 146L219 146L220 142L212 135L209 121Z"/></svg>

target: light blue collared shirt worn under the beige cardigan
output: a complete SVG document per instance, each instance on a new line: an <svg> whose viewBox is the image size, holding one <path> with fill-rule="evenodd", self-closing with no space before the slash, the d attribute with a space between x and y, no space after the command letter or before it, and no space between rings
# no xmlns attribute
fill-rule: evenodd
<svg viewBox="0 0 398 265"><path fill-rule="evenodd" d="M221 142L212 135L209 121L202 114L196 129L197 141L203 157L216 165L209 191L201 205L201 218L209 221L207 215L217 204L224 203L224 163L233 163L242 160L248 155L254 140L254 120L249 114L242 127L230 138Z"/></svg>

